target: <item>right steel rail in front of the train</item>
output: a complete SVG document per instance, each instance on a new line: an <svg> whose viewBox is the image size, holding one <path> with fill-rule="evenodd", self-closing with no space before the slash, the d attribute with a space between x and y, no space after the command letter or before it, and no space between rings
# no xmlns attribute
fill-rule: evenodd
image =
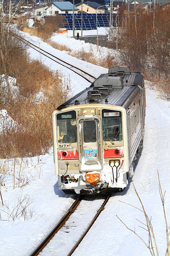
<svg viewBox="0 0 170 256"><path fill-rule="evenodd" d="M87 234L88 230L91 228L91 226L93 225L93 223L95 222L95 220L97 219L97 217L99 216L99 214L101 213L101 211L104 210L104 206L106 205L107 201L109 200L111 194L109 194L105 201L103 202L102 206L100 207L100 209L97 211L97 214L94 216L93 220L91 221L91 223L89 224L88 228L85 230L85 232L82 234L82 236L79 238L79 240L76 242L76 244L73 246L73 248L71 249L71 251L69 252L69 254L67 254L67 256L71 256L73 254L73 252L76 250L76 248L78 247L78 245L80 244L80 242L82 241L82 239L85 237L85 235Z"/></svg>

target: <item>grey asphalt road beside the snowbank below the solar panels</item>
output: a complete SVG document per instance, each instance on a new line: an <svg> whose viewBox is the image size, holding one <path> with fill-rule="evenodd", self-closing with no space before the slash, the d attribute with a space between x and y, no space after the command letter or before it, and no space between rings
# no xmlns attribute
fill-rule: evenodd
<svg viewBox="0 0 170 256"><path fill-rule="evenodd" d="M97 45L97 36L80 36L79 40L84 40L86 43ZM98 36L98 41L100 46L105 46L107 48L115 48L112 45L112 42L108 41L108 35Z"/></svg>

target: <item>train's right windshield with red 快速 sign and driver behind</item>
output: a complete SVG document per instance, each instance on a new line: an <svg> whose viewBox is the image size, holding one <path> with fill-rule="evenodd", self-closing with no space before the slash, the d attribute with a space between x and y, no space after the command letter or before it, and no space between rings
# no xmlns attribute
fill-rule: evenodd
<svg viewBox="0 0 170 256"><path fill-rule="evenodd" d="M121 141L123 139L121 111L103 109L102 126L104 141Z"/></svg>

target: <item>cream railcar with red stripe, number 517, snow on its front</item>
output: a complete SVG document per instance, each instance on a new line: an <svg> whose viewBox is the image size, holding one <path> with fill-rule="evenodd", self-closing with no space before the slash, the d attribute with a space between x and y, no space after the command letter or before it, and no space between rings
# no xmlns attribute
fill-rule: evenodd
<svg viewBox="0 0 170 256"><path fill-rule="evenodd" d="M84 195L123 191L142 148L145 108L143 74L122 65L53 111L58 189Z"/></svg>

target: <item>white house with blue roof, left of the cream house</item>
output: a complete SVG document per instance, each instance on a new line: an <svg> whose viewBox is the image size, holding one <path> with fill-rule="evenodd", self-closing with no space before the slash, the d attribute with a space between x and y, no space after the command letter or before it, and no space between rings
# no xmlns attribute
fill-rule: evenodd
<svg viewBox="0 0 170 256"><path fill-rule="evenodd" d="M74 7L74 13L78 13L78 8ZM51 2L34 8L34 17L41 20L43 16L54 16L56 14L73 13L73 4L70 2Z"/></svg>

